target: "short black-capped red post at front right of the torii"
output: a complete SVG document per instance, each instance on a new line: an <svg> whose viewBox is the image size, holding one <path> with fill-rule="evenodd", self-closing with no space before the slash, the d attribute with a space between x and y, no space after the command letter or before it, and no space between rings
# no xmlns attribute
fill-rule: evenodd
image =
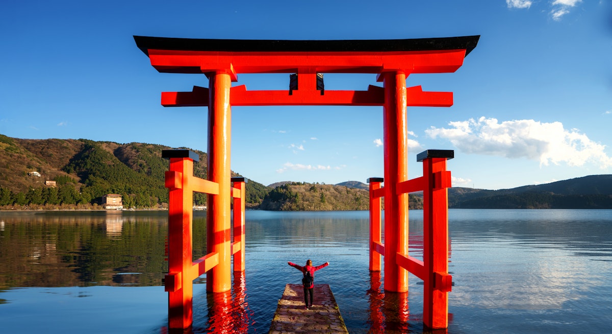
<svg viewBox="0 0 612 334"><path fill-rule="evenodd" d="M449 297L452 276L449 275L448 191L451 186L447 159L452 150L427 150L417 155L423 162L423 322L430 328L449 326Z"/></svg>

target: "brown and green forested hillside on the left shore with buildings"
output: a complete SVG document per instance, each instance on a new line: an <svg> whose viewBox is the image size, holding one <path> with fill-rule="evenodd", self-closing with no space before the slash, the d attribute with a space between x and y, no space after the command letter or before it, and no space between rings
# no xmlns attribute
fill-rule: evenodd
<svg viewBox="0 0 612 334"><path fill-rule="evenodd" d="M121 194L127 208L163 206L168 202L163 181L168 161L162 158L162 150L168 149L145 143L25 140L0 135L0 206L87 208L106 194ZM194 164L193 174L206 178L206 153L194 151L200 162ZM31 172L40 176L28 175ZM56 187L45 186L47 180L56 181ZM257 205L267 190L249 180L247 203ZM194 203L204 205L206 195L195 194Z"/></svg>

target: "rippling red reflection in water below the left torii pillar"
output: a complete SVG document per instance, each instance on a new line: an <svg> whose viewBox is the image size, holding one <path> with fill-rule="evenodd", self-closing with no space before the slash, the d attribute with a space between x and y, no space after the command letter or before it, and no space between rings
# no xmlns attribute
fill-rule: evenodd
<svg viewBox="0 0 612 334"><path fill-rule="evenodd" d="M192 333L247 333L248 326L253 324L253 312L248 308L244 273L234 273L232 290L206 295L206 323L195 319L195 326L182 329L161 328L162 334L192 334ZM195 307L195 306L194 306Z"/></svg>

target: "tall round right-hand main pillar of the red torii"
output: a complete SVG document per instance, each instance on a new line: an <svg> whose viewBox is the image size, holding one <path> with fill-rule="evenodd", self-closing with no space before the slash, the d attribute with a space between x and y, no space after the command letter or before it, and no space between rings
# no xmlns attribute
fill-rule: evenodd
<svg viewBox="0 0 612 334"><path fill-rule="evenodd" d="M408 116L406 74L383 72L384 86L384 289L408 291L408 271L397 264L397 253L408 252L408 194L397 192L397 184L408 180Z"/></svg>

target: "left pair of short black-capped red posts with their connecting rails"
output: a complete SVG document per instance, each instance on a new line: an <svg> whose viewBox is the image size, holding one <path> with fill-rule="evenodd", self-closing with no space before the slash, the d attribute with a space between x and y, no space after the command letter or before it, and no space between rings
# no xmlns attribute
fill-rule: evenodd
<svg viewBox="0 0 612 334"><path fill-rule="evenodd" d="M165 290L168 292L168 322L170 328L188 328L193 322L192 281L205 272L212 273L212 269L218 267L220 256L217 251L225 251L226 246L225 243L222 243L217 245L217 248L211 247L207 250L206 256L192 262L193 192L215 196L220 194L220 188L218 183L193 176L193 162L199 160L195 152L163 150L162 158L170 159L170 170L165 175L165 186L170 189L169 272L165 276ZM234 201L234 241L231 243L231 256L234 259L234 273L242 273L245 257L244 200L247 179L233 177L230 181L233 186L229 192ZM210 235L211 233L207 233L207 236ZM222 237L229 236L224 234ZM227 243L229 241L228 239ZM225 261L229 263L230 259L225 259ZM218 281L223 283L221 280Z"/></svg>

